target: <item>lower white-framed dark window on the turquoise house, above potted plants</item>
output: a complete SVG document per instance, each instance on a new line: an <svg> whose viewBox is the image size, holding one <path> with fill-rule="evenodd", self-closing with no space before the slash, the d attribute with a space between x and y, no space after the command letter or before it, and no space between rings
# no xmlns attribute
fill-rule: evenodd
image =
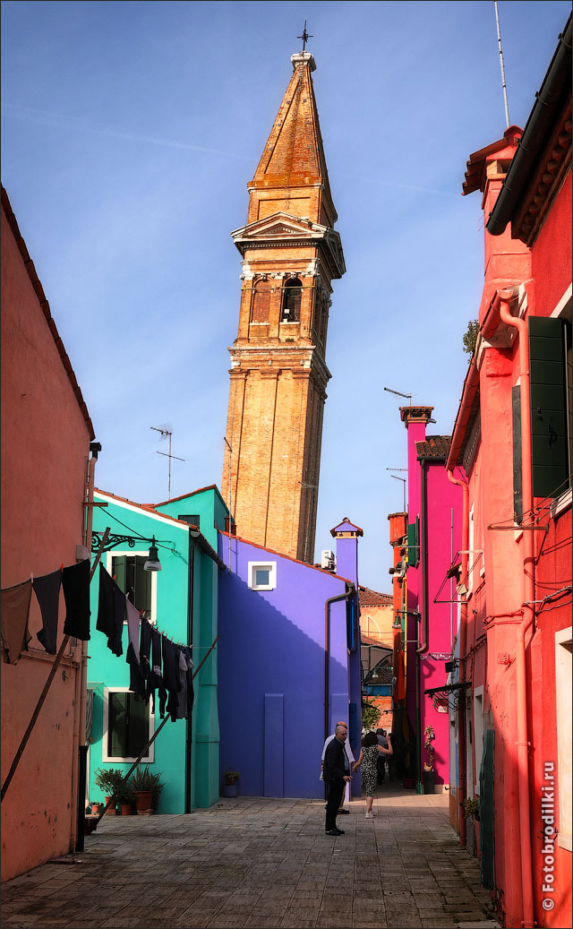
<svg viewBox="0 0 573 929"><path fill-rule="evenodd" d="M136 761L154 729L150 703L138 702L128 687L104 687L102 762ZM152 744L141 761L153 761Z"/></svg>

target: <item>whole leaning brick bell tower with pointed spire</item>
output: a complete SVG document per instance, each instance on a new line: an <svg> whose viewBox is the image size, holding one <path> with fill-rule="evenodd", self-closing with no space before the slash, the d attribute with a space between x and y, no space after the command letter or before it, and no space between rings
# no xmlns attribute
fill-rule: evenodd
<svg viewBox="0 0 573 929"><path fill-rule="evenodd" d="M293 76L247 185L247 224L232 233L242 283L222 491L240 536L312 561L329 307L345 260L333 229L315 61L306 51L291 61Z"/></svg>

